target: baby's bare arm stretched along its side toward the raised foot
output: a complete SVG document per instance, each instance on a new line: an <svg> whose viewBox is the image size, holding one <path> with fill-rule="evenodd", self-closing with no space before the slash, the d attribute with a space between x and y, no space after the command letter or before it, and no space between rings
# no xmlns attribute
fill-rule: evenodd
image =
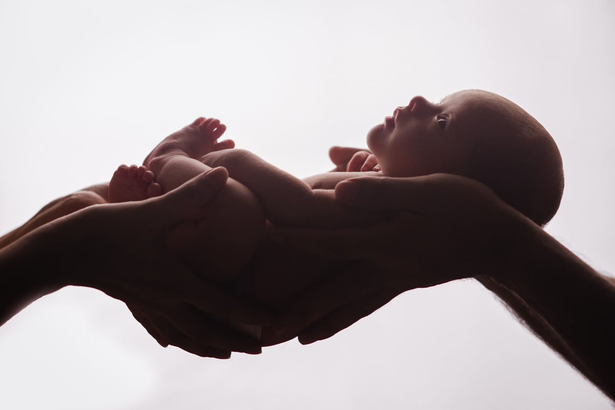
<svg viewBox="0 0 615 410"><path fill-rule="evenodd" d="M263 205L266 218L274 224L341 227L365 225L382 219L373 213L338 205L335 192L330 189L312 190L311 184L316 178L309 185L250 151L232 149L212 152L202 161L210 167L225 167L232 179L247 186ZM346 178L349 177L346 175ZM335 185L329 180L323 186Z"/></svg>

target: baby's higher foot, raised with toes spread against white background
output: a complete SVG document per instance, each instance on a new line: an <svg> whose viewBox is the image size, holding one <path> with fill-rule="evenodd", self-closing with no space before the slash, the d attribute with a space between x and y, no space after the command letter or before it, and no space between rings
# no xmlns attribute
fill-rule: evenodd
<svg viewBox="0 0 615 410"><path fill-rule="evenodd" d="M226 131L226 125L215 118L199 117L192 124L186 125L178 132L167 136L143 161L143 165L154 172L159 172L165 159L170 156L185 156L200 160L205 154L221 149L233 148L232 140L218 143L218 138Z"/></svg>

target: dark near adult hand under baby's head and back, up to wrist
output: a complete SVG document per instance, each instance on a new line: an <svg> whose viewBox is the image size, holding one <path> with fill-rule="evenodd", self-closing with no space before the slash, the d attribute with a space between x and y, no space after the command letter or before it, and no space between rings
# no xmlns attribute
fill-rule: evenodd
<svg viewBox="0 0 615 410"><path fill-rule="evenodd" d="M354 178L335 191L344 205L392 216L362 229L276 227L288 246L349 262L274 324L300 332L304 344L332 336L404 291L497 272L520 238L540 230L488 187L461 176Z"/></svg>

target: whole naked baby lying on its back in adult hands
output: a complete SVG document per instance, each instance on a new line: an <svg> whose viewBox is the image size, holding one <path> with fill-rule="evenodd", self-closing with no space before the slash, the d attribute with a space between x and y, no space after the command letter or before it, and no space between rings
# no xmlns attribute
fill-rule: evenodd
<svg viewBox="0 0 615 410"><path fill-rule="evenodd" d="M169 247L210 280L228 286L250 283L248 297L283 309L295 294L340 266L270 240L271 224L365 226L386 215L336 203L335 184L359 175L356 172L301 181L252 152L224 149L232 148L232 141L218 143L224 130L216 119L199 118L168 136L146 157L144 167L124 165L116 171L109 200L145 199L211 167L226 167L229 181L208 205L207 217L178 227ZM451 173L474 178L541 226L560 203L563 170L554 140L530 114L490 92L457 92L438 104L415 97L371 128L367 144L371 154L359 156L365 157L359 168L370 175ZM238 280L240 276L248 276L249 282ZM264 345L293 337L267 330Z"/></svg>

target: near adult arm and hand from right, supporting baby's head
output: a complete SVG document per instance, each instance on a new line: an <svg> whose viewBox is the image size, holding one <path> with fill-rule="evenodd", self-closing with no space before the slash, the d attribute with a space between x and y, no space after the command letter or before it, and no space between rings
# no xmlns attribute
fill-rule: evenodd
<svg viewBox="0 0 615 410"><path fill-rule="evenodd" d="M589 380L615 398L615 286L471 179L361 178L336 188L345 205L403 211L367 229L284 230L290 246L354 265L279 318L300 341L335 334L413 288L476 277ZM369 241L365 241L369 238Z"/></svg>

